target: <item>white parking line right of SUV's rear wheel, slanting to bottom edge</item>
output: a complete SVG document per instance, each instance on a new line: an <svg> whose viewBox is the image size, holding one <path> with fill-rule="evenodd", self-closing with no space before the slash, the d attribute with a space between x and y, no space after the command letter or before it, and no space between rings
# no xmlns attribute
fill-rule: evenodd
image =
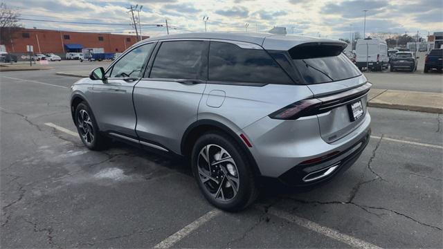
<svg viewBox="0 0 443 249"><path fill-rule="evenodd" d="M318 232L319 234L323 234L331 239L335 239L337 241L341 241L343 243L346 243L347 245L350 245L354 248L381 249L381 247L375 246L372 243L363 241L361 239L356 239L356 238L349 236L347 234L342 234L341 232L338 232L337 230L334 230L332 228L327 228L323 225L319 225L313 221L309 221L308 219L296 216L294 214L290 214L288 212L284 212L282 210L270 208L268 210L268 212L269 212L269 214L272 214L274 216L278 216L281 219L285 219L289 222L296 223L297 225L300 225L303 228L307 228L307 229L312 230L314 232Z"/></svg>

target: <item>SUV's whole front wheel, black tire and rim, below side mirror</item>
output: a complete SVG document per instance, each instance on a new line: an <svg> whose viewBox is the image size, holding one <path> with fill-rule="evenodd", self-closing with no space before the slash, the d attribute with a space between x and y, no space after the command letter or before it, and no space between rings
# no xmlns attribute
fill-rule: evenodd
<svg viewBox="0 0 443 249"><path fill-rule="evenodd" d="M86 113L86 114L85 114ZM109 139L100 133L91 109L80 102L75 109L75 127L84 146L91 150L101 150L109 144ZM82 122L83 121L83 122Z"/></svg>

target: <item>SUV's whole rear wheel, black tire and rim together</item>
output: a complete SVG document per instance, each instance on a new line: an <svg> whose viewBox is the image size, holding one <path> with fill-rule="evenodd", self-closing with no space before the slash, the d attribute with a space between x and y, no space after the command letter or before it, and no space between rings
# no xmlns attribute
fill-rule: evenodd
<svg viewBox="0 0 443 249"><path fill-rule="evenodd" d="M214 164L217 157L221 163ZM258 196L255 176L244 149L224 133L210 131L198 138L192 148L191 165L204 197L221 210L243 210Z"/></svg>

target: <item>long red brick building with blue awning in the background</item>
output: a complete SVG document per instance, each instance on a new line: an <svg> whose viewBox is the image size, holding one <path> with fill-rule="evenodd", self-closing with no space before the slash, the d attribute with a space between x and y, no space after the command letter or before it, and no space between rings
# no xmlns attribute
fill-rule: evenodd
<svg viewBox="0 0 443 249"><path fill-rule="evenodd" d="M15 31L5 45L9 53L24 54L26 45L32 45L34 53L55 53L64 57L68 52L81 52L81 48L104 48L105 53L121 53L136 42L135 35L22 28Z"/></svg>

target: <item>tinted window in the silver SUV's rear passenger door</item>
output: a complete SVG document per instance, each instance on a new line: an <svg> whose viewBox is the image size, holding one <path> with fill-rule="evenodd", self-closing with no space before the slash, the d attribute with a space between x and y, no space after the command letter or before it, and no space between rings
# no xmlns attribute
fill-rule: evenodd
<svg viewBox="0 0 443 249"><path fill-rule="evenodd" d="M203 41L163 42L150 77L199 80L206 69L206 43Z"/></svg>

